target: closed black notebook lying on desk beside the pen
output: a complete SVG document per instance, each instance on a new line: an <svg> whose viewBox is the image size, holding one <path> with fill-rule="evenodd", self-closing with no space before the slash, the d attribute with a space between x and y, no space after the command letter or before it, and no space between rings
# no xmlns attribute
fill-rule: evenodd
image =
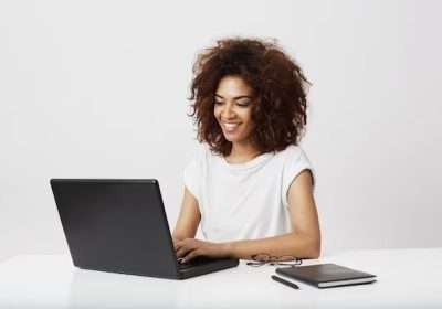
<svg viewBox="0 0 442 309"><path fill-rule="evenodd" d="M375 275L336 264L280 267L276 268L276 273L292 279L314 285L318 288L364 285L376 281Z"/></svg>

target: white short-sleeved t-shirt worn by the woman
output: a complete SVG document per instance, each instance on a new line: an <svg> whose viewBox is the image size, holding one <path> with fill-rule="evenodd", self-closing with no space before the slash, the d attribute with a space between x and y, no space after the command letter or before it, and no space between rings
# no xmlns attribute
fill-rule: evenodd
<svg viewBox="0 0 442 309"><path fill-rule="evenodd" d="M238 164L227 162L204 145L183 173L185 185L198 200L203 236L231 242L290 233L287 191L305 169L314 177L298 146Z"/></svg>

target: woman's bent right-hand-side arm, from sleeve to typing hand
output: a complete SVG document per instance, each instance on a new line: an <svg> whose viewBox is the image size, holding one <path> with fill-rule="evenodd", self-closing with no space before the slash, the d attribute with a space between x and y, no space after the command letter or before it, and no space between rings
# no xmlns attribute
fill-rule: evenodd
<svg viewBox="0 0 442 309"><path fill-rule="evenodd" d="M317 258L320 253L320 232L313 198L312 174L308 170L304 170L296 177L287 194L292 233L222 244L186 238L177 243L177 255L185 257L185 260L199 255L251 259L252 255L260 253L272 256L291 255L298 258Z"/></svg>

